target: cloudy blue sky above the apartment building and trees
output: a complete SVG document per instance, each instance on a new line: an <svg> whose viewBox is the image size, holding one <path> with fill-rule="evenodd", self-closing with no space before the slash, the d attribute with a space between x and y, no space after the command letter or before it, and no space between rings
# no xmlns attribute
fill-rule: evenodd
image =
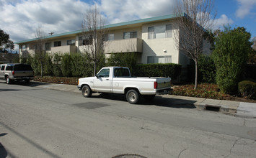
<svg viewBox="0 0 256 158"><path fill-rule="evenodd" d="M14 42L81 29L83 14L97 5L107 24L172 14L177 0L0 0L0 29ZM215 0L213 29L244 27L256 37L256 0ZM18 47L15 46L15 50Z"/></svg>

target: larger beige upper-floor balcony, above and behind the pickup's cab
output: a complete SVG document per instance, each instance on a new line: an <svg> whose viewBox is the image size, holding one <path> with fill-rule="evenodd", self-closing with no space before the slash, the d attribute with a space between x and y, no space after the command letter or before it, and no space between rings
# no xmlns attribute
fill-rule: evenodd
<svg viewBox="0 0 256 158"><path fill-rule="evenodd" d="M107 41L105 53L142 52L143 40L138 38Z"/></svg>

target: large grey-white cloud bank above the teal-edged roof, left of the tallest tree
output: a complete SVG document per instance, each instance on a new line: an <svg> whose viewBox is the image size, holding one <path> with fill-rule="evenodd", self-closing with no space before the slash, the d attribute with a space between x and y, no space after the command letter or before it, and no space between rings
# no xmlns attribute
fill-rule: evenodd
<svg viewBox="0 0 256 158"><path fill-rule="evenodd" d="M35 37L40 26L44 32L69 32L81 29L81 17L97 5L109 24L172 14L177 0L0 0L0 28L14 42Z"/></svg>

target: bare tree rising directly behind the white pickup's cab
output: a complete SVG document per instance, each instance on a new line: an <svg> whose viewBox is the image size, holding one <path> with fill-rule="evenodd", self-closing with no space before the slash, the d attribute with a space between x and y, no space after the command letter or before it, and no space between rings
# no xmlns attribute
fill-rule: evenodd
<svg viewBox="0 0 256 158"><path fill-rule="evenodd" d="M97 7L87 10L81 24L83 29L81 44L84 45L81 52L84 52L89 60L94 62L94 75L96 75L97 64L105 57L105 37L108 29L105 28L105 18L102 17Z"/></svg>

